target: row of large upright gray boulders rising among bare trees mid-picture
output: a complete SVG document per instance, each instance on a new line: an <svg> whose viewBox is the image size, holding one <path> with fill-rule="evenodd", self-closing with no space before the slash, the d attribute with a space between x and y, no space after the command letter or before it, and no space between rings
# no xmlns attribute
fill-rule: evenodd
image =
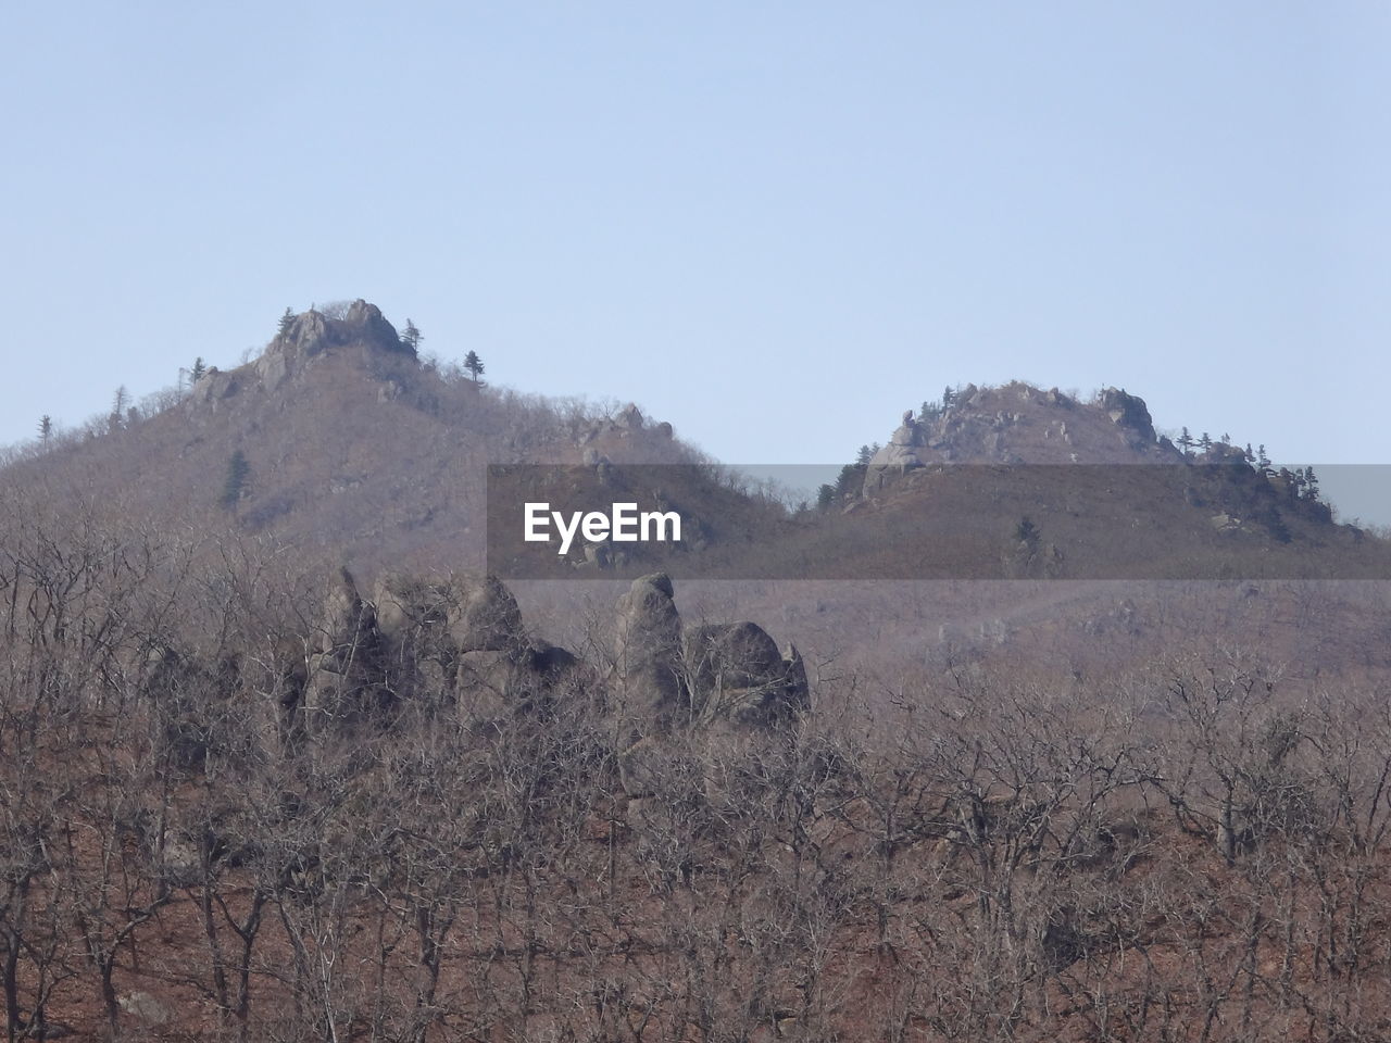
<svg viewBox="0 0 1391 1043"><path fill-rule="evenodd" d="M285 711L287 725L309 733L410 701L495 722L556 697L577 670L604 684L630 743L716 722L773 725L808 702L796 648L779 649L747 622L683 629L664 573L634 580L619 598L606 683L572 652L529 638L516 598L492 576L384 576L367 599L345 569L305 649L305 672ZM281 680L292 681L288 673Z"/></svg>

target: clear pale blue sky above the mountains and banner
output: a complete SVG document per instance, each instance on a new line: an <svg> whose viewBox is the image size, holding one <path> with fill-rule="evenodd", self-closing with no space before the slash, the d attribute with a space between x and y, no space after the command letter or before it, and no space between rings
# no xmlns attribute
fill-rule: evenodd
<svg viewBox="0 0 1391 1043"><path fill-rule="evenodd" d="M947 382L1391 462L1374 3L10 3L0 442L364 296L727 460Z"/></svg>

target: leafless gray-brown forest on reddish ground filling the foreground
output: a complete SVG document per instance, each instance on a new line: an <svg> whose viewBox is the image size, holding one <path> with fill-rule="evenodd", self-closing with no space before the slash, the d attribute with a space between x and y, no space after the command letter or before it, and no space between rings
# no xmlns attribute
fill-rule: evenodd
<svg viewBox="0 0 1391 1043"><path fill-rule="evenodd" d="M1175 651L748 715L602 613L544 669L515 602L384 644L274 541L6 508L11 1040L1391 1033L1374 684Z"/></svg>

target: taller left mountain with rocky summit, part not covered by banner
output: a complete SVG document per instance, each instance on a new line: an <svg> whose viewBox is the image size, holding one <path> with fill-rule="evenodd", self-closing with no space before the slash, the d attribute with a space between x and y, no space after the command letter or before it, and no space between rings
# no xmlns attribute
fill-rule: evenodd
<svg viewBox="0 0 1391 1043"><path fill-rule="evenodd" d="M210 369L7 469L13 488L284 541L327 567L481 570L488 463L694 463L634 407L545 402L421 362L363 300L287 317L252 362ZM246 476L228 498L234 455Z"/></svg>

